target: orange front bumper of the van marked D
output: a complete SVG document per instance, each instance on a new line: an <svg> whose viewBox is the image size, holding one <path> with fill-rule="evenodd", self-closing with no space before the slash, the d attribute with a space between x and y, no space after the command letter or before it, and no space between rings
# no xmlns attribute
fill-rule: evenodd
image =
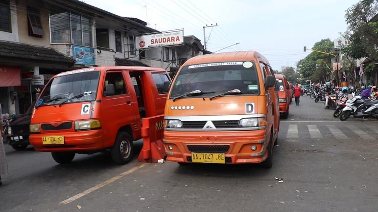
<svg viewBox="0 0 378 212"><path fill-rule="evenodd" d="M216 148L217 146L229 146L225 153L225 161L227 164L244 164L244 163L261 163L267 156L266 151L269 139L266 139L266 130L250 130L250 131L164 131L164 145L167 154L167 161L190 163L192 153L191 147L206 147L205 149ZM251 150L251 146L255 145L257 149ZM170 150L168 146L171 146ZM206 151L206 150L204 150Z"/></svg>

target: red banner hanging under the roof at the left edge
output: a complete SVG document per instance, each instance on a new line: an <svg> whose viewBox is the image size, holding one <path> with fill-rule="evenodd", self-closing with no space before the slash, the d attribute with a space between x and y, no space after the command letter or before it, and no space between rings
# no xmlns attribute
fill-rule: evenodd
<svg viewBox="0 0 378 212"><path fill-rule="evenodd" d="M21 68L0 65L0 87L20 86Z"/></svg>

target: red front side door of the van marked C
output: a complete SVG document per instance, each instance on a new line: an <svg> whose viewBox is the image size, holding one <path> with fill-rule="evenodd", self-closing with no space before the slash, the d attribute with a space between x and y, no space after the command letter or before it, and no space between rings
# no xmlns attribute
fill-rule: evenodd
<svg viewBox="0 0 378 212"><path fill-rule="evenodd" d="M105 148L112 147L118 129L137 124L138 103L126 89L122 71L107 71L103 82L101 126L106 134ZM138 118L138 121L139 118Z"/></svg>

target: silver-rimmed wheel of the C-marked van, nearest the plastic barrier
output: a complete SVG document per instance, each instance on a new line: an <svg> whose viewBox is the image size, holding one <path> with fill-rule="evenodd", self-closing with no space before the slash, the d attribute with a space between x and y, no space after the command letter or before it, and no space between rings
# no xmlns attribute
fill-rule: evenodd
<svg viewBox="0 0 378 212"><path fill-rule="evenodd" d="M114 163L127 164L133 157L133 141L127 132L119 132L110 151Z"/></svg>

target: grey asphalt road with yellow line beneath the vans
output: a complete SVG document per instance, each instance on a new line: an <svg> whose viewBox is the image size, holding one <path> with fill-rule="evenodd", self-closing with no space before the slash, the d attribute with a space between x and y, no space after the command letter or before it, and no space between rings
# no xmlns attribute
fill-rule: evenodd
<svg viewBox="0 0 378 212"><path fill-rule="evenodd" d="M136 157L117 166L100 153L58 165L50 153L6 145L0 212L377 212L378 122L332 113L309 97L291 104L268 170Z"/></svg>

